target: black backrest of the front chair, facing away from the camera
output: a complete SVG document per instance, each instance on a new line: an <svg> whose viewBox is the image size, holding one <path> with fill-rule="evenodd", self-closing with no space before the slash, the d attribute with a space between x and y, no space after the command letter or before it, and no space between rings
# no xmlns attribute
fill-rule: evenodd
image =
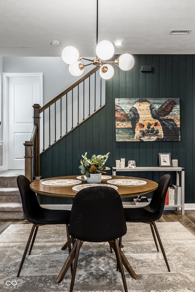
<svg viewBox="0 0 195 292"><path fill-rule="evenodd" d="M110 187L89 187L73 201L69 234L87 242L106 242L126 234L126 221L119 193Z"/></svg>

